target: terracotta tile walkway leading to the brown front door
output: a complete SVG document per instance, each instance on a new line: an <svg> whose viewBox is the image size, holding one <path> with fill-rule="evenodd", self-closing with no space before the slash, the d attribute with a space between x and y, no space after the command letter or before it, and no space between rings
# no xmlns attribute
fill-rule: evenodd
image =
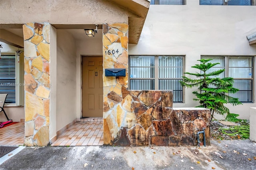
<svg viewBox="0 0 256 170"><path fill-rule="evenodd" d="M57 137L52 146L103 145L102 121L76 122Z"/></svg>

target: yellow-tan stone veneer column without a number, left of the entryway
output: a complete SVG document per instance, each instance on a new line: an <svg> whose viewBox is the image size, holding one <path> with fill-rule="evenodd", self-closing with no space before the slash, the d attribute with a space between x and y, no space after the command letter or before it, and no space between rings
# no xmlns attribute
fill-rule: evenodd
<svg viewBox="0 0 256 170"><path fill-rule="evenodd" d="M25 146L49 144L50 24L27 23L24 34Z"/></svg>

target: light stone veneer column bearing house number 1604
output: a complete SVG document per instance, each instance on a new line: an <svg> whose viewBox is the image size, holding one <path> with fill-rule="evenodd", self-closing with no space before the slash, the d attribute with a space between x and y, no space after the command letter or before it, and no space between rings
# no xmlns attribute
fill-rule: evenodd
<svg viewBox="0 0 256 170"><path fill-rule="evenodd" d="M122 89L128 86L128 24L103 24L103 69L125 68L126 77L105 77L103 75L104 96L104 144L113 144L124 119L135 123L135 115L130 112L131 96L122 102ZM122 102L122 103L121 103ZM128 102L127 107L123 107ZM126 126L131 126L130 123Z"/></svg>

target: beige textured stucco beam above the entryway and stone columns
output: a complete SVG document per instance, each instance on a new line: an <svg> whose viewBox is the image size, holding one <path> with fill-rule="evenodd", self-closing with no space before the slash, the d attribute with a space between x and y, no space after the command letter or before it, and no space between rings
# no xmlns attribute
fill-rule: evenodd
<svg viewBox="0 0 256 170"><path fill-rule="evenodd" d="M106 0L1 0L0 4L1 24L102 24L127 22L128 16L135 16Z"/></svg>

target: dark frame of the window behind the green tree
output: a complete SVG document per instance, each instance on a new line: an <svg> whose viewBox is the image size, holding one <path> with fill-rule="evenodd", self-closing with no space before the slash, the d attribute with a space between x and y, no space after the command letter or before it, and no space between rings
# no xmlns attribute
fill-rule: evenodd
<svg viewBox="0 0 256 170"><path fill-rule="evenodd" d="M254 55L201 55L201 59L207 57L207 58L214 58L214 57L224 57L224 77L230 77L229 76L229 69L234 68L229 66L229 59L230 58L250 58L252 61L252 77L251 78L234 78L234 80L251 80L252 81L252 101L241 101L242 103L254 103ZM242 67L242 68L248 68L248 67ZM242 91L242 90L241 90ZM248 90L249 91L249 90Z"/></svg>

